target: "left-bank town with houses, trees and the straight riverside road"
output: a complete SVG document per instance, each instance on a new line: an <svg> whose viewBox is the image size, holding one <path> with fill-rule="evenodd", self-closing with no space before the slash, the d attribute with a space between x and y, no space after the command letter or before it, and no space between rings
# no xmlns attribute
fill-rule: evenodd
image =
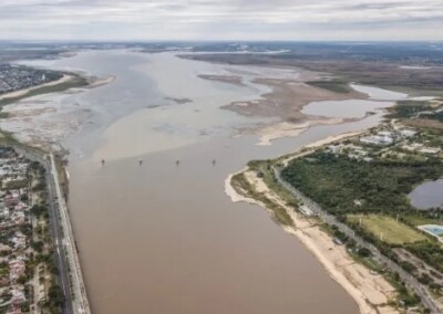
<svg viewBox="0 0 443 314"><path fill-rule="evenodd" d="M58 164L2 135L0 313L91 313Z"/></svg>

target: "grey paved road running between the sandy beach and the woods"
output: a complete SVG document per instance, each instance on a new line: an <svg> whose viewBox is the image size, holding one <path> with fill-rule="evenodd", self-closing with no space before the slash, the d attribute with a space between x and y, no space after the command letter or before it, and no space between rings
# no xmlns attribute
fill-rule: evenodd
<svg viewBox="0 0 443 314"><path fill-rule="evenodd" d="M392 272L399 273L400 278L408 283L414 292L421 297L422 303L424 306L426 306L429 310L431 310L431 313L443 313L440 311L437 307L435 301L432 299L427 290L412 275L410 275L408 272L405 272L401 266L399 266L396 263L388 259L387 257L382 255L380 251L369 242L364 241L360 237L356 234L356 232L346 226L344 223L338 221L336 217L332 214L327 213L318 203L306 197L303 193L301 193L299 190L297 190L295 187L292 187L290 184L285 181L281 177L280 170L277 168L274 168L275 176L277 180L286 188L288 189L297 199L301 200L310 210L316 212L323 221L326 221L329 224L337 226L337 228L347 234L349 238L353 239L356 243L358 243L361 248L367 248L368 250L371 251L372 255L379 260L381 263L385 264Z"/></svg>

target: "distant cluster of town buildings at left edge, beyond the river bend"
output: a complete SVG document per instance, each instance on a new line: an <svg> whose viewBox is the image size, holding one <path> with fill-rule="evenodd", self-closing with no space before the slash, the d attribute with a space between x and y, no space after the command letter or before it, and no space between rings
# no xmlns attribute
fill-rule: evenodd
<svg viewBox="0 0 443 314"><path fill-rule="evenodd" d="M29 88L61 77L60 73L53 71L0 64L0 94Z"/></svg>

